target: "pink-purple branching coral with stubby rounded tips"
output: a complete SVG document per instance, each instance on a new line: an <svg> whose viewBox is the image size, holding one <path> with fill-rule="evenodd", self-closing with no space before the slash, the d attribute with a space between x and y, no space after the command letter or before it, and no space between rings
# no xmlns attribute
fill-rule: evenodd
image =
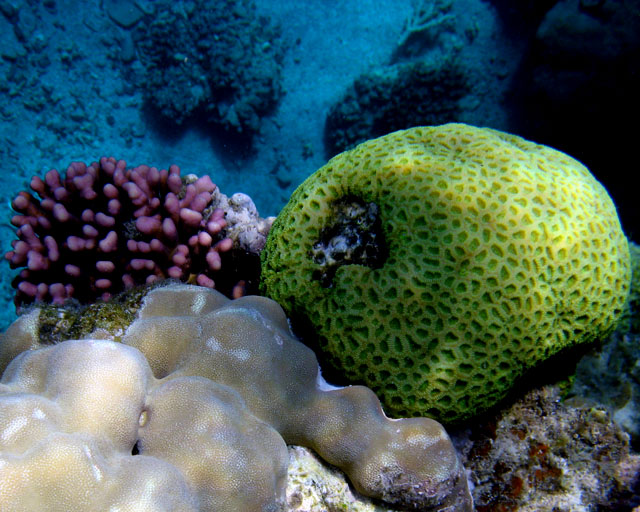
<svg viewBox="0 0 640 512"><path fill-rule="evenodd" d="M23 268L14 279L15 303L80 302L158 279L213 288L226 236L225 211L209 176L180 176L123 160L73 162L63 177L31 179L32 192L12 202L18 240L5 257ZM238 293L238 290L235 290Z"/></svg>

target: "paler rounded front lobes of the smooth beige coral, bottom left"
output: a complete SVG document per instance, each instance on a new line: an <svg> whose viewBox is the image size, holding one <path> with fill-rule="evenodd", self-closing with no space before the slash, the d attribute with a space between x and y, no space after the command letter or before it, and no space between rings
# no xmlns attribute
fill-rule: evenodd
<svg viewBox="0 0 640 512"><path fill-rule="evenodd" d="M76 340L25 352L1 391L2 510L278 509L284 441L226 386Z"/></svg>

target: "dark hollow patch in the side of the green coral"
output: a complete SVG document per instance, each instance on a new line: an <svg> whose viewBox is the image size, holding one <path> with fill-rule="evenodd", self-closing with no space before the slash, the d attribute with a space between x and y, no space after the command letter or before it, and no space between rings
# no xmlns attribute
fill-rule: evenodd
<svg viewBox="0 0 640 512"><path fill-rule="evenodd" d="M346 196L335 201L331 209L335 216L321 230L310 251L317 265L313 279L325 288L333 286L341 266L381 268L388 256L377 204Z"/></svg>

